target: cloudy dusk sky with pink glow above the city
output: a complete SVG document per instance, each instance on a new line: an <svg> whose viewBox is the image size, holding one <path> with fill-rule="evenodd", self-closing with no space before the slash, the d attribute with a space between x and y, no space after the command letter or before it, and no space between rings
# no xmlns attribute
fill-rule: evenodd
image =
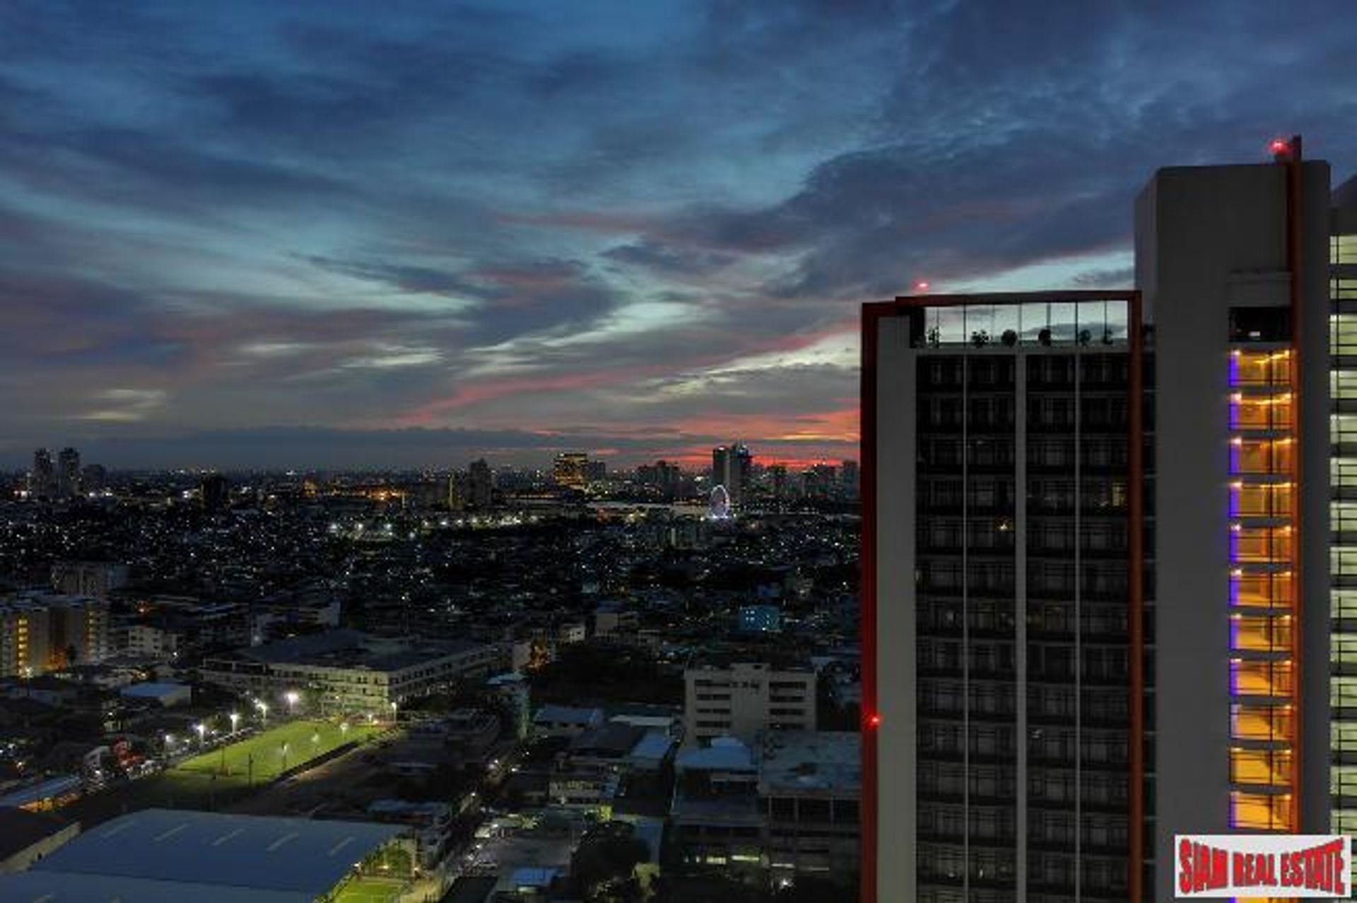
<svg viewBox="0 0 1357 903"><path fill-rule="evenodd" d="M1343 0L0 3L0 466L858 457L858 316L1357 168Z"/></svg>

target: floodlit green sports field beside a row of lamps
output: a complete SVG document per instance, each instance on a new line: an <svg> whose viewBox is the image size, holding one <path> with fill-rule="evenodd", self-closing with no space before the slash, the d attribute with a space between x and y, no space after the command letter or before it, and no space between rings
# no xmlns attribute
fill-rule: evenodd
<svg viewBox="0 0 1357 903"><path fill-rule="evenodd" d="M380 724L354 723L347 731L342 731L337 721L288 721L186 759L168 773L213 776L221 789L248 782L267 784L285 770L322 757L345 743L361 743L384 729L385 725Z"/></svg>

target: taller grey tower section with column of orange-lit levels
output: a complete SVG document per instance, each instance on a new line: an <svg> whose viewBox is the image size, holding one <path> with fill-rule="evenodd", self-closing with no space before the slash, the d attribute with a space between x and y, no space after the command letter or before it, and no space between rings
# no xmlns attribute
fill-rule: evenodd
<svg viewBox="0 0 1357 903"><path fill-rule="evenodd" d="M1155 899L1175 831L1329 830L1329 164L1299 145L1160 169L1136 203L1160 388Z"/></svg>

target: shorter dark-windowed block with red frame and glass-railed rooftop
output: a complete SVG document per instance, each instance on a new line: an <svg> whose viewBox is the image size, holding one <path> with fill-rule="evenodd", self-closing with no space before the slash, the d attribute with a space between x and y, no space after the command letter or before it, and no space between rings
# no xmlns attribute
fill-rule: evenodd
<svg viewBox="0 0 1357 903"><path fill-rule="evenodd" d="M864 900L1126 899L1139 320L1128 292L864 310Z"/></svg>

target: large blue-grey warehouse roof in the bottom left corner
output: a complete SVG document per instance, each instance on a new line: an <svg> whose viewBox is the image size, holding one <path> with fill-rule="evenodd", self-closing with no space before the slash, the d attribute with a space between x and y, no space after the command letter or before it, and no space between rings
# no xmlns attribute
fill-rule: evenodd
<svg viewBox="0 0 1357 903"><path fill-rule="evenodd" d="M372 822L142 809L85 831L34 870L319 896L403 831ZM180 899L193 896L183 891Z"/></svg>

